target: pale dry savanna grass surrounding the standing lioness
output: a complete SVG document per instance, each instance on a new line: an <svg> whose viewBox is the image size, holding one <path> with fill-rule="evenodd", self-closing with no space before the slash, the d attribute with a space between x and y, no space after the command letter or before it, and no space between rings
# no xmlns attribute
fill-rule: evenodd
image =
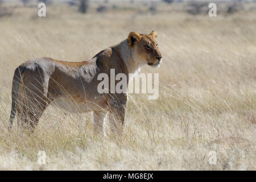
<svg viewBox="0 0 256 182"><path fill-rule="evenodd" d="M80 14L76 7L51 5L46 18L36 7L18 6L1 17L0 169L255 170L255 3L213 18L175 11L180 6ZM7 131L11 80L23 61L90 59L130 31L152 30L163 62L142 72L159 73L159 98L130 94L121 137L94 136L92 114L53 106L34 134L21 133L16 123ZM37 163L39 151L46 151L46 165Z"/></svg>

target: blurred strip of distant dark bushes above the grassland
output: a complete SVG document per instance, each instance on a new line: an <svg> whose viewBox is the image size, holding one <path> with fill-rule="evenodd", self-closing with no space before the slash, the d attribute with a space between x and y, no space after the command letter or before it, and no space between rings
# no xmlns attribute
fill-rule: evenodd
<svg viewBox="0 0 256 182"><path fill-rule="evenodd" d="M191 15L208 12L210 2L216 3L218 14L255 11L254 0L190 1L190 0L0 0L0 16L11 16L20 9L37 8L43 2L47 7L65 6L68 11L80 13L159 14L184 12ZM67 13L67 12L65 12Z"/></svg>

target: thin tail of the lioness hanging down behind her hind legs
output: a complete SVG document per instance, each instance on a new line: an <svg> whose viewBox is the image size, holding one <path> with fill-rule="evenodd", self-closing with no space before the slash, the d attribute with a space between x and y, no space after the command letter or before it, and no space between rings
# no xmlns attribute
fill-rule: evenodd
<svg viewBox="0 0 256 182"><path fill-rule="evenodd" d="M19 85L22 78L22 73L24 72L25 67L20 65L15 69L14 76L13 76L13 86L11 89L11 115L9 120L9 129L13 126L13 121L16 115L16 107L18 101L18 92L19 92Z"/></svg>

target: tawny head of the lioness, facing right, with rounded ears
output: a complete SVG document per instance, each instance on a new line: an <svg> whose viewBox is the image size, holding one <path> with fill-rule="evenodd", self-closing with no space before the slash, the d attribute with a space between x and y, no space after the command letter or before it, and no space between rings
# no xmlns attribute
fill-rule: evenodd
<svg viewBox="0 0 256 182"><path fill-rule="evenodd" d="M138 64L148 64L151 67L158 67L162 59L162 54L156 43L156 32L153 30L150 34L138 34L130 32L128 36L129 46L133 48L133 59Z"/></svg>

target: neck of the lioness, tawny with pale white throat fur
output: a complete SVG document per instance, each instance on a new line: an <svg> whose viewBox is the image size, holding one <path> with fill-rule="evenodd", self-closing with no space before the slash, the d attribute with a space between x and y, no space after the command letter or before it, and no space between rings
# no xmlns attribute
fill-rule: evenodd
<svg viewBox="0 0 256 182"><path fill-rule="evenodd" d="M138 61L133 59L132 50L127 43L127 39L123 40L117 46L120 51L120 56L128 69L128 72L133 75L138 73L141 70L141 67L143 67L143 64L139 64Z"/></svg>

